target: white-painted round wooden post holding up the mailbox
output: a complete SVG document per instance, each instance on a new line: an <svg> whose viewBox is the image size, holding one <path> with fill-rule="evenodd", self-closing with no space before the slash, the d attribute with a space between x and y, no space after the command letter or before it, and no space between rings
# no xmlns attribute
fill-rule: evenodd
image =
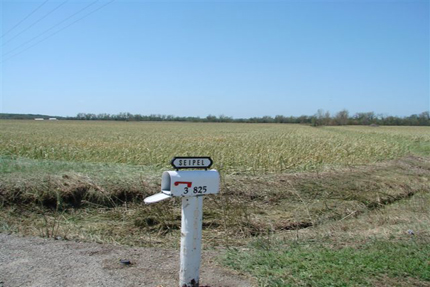
<svg viewBox="0 0 430 287"><path fill-rule="evenodd" d="M203 196L182 198L180 287L198 287L202 241Z"/></svg>

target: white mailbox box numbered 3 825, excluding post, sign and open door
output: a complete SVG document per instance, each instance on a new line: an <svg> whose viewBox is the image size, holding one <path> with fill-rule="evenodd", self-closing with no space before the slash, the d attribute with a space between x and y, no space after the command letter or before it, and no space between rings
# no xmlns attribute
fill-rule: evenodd
<svg viewBox="0 0 430 287"><path fill-rule="evenodd" d="M161 192L170 196L199 196L219 192L218 171L165 171L161 178Z"/></svg>

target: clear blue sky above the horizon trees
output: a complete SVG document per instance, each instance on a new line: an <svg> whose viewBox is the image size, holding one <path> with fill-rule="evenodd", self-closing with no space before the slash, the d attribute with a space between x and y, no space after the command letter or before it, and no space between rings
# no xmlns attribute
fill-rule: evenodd
<svg viewBox="0 0 430 287"><path fill-rule="evenodd" d="M430 108L428 0L45 1L1 2L0 112Z"/></svg>

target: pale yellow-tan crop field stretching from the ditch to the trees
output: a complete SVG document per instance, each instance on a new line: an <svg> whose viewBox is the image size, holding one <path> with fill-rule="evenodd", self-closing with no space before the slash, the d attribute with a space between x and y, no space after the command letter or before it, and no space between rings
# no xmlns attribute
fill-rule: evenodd
<svg viewBox="0 0 430 287"><path fill-rule="evenodd" d="M395 159L430 145L428 127L0 121L0 155L168 168L207 155L222 173L284 173Z"/></svg>

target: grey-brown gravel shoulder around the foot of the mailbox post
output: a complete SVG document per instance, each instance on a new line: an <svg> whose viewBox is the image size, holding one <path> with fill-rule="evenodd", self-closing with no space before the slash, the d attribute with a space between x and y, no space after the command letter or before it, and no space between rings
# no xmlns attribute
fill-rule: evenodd
<svg viewBox="0 0 430 287"><path fill-rule="evenodd" d="M200 285L253 286L202 254ZM131 265L124 266L121 259ZM0 234L0 286L178 286L179 250Z"/></svg>

